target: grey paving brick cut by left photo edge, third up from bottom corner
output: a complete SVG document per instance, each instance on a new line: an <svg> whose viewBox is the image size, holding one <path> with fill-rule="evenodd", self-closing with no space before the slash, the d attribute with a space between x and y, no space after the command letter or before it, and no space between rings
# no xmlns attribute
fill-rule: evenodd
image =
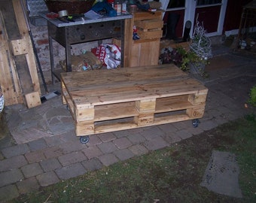
<svg viewBox="0 0 256 203"><path fill-rule="evenodd" d="M27 163L28 162L26 161L24 156L14 156L9 159L4 159L0 161L0 171L8 171L13 168L20 168Z"/></svg>

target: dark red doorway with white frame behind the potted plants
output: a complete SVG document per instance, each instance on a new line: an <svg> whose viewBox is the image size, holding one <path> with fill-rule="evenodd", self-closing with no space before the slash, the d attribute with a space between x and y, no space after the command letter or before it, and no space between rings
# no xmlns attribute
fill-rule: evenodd
<svg viewBox="0 0 256 203"><path fill-rule="evenodd" d="M168 23L169 15L178 15L175 34L182 37L187 20L191 22L190 36L193 34L195 23L203 24L209 37L221 35L227 0L160 0L164 23Z"/></svg>

